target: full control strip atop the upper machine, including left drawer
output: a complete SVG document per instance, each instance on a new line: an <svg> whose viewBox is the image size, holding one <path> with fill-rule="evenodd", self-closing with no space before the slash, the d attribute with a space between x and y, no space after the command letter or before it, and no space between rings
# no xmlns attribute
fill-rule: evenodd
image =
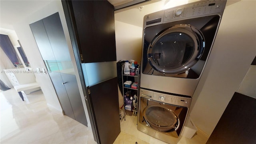
<svg viewBox="0 0 256 144"><path fill-rule="evenodd" d="M222 16L226 2L226 0L202 0L147 14L144 16L143 29L148 26L176 22L178 20L214 15Z"/></svg>

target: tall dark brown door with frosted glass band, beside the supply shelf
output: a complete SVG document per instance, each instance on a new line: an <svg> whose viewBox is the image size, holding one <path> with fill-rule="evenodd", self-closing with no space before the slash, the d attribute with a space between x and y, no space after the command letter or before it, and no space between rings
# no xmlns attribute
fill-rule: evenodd
<svg viewBox="0 0 256 144"><path fill-rule="evenodd" d="M120 133L114 6L107 0L62 0L62 5L94 140L112 144Z"/></svg>

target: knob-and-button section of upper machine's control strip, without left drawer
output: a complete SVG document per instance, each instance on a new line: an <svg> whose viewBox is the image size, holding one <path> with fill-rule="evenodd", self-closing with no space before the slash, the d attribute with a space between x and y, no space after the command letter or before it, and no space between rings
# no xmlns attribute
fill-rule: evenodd
<svg viewBox="0 0 256 144"><path fill-rule="evenodd" d="M170 8L164 11L164 22L177 18L221 13L223 12L225 5L225 0L206 0L202 2L194 2L186 6Z"/></svg>

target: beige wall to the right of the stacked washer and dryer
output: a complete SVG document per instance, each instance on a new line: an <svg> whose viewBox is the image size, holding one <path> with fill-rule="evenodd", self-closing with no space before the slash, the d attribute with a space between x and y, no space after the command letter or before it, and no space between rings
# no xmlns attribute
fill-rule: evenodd
<svg viewBox="0 0 256 144"><path fill-rule="evenodd" d="M256 1L227 5L190 107L190 117L208 136L256 55Z"/></svg>

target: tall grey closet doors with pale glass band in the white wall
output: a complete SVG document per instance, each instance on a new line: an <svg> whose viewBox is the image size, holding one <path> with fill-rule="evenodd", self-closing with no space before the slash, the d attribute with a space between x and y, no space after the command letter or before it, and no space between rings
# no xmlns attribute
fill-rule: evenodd
<svg viewBox="0 0 256 144"><path fill-rule="evenodd" d="M86 115L57 13L30 24L65 115L87 126Z"/></svg>

